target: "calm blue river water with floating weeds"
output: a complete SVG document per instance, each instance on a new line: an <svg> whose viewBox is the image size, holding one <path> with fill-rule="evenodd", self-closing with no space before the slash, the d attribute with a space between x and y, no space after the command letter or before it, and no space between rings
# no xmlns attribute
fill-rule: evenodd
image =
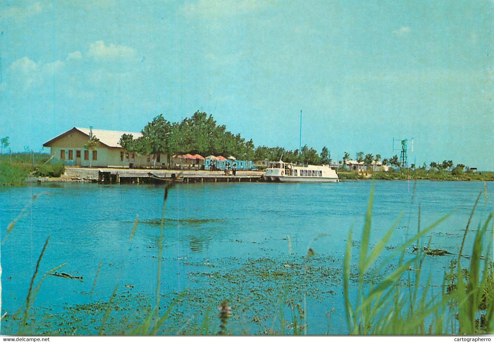
<svg viewBox="0 0 494 342"><path fill-rule="evenodd" d="M161 294L164 303L184 290L188 296L178 303L169 332L200 325L207 309L214 321L219 302L228 299L235 317L231 320L236 327L233 329L256 334L278 326L274 316L280 303L288 299L301 302L306 292L308 332L326 333L326 313L334 308L330 333L346 333L341 294L343 255L350 226L354 225L356 259L371 185L370 181L176 185L166 203ZM484 183L419 181L413 203L412 188L413 183L406 181L375 183L371 243L379 240L400 211L407 208L384 251L393 252L416 231L420 203L423 228L455 210L423 244L432 237L431 247L457 253L462 229ZM492 182L487 190L494 194ZM59 271L83 276L84 282L47 277L34 304L37 321L45 311L63 314L68 305L108 301L117 285L118 295L127 296L122 300L130 319L143 301L155 300L160 226L154 223L162 216L163 187L71 183L0 187L2 243L8 223L35 194L39 197L27 207L1 246L2 314L24 305L48 235L51 238L38 281L49 269L67 263ZM487 205L482 195L472 230L487 217L493 204L492 195ZM130 242L136 215L140 223ZM474 233L468 235L468 254ZM310 275L304 276L308 247L316 255L310 261ZM407 257L412 256L407 251ZM428 257L424 269L436 272L441 282L450 259ZM100 274L90 296L100 261ZM288 316L289 311L285 314ZM97 315L101 319L102 312ZM261 323L252 322L253 317ZM15 332L15 324L2 321L1 333ZM65 322L67 327L77 324L70 319ZM76 334L97 332L90 329L94 327L78 326Z"/></svg>

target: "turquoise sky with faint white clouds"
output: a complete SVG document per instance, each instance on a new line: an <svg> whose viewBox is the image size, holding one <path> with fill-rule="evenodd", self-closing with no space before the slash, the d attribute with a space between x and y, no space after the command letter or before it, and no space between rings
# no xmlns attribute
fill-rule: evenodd
<svg viewBox="0 0 494 342"><path fill-rule="evenodd" d="M0 2L0 137L212 114L255 145L494 170L493 1ZM399 146L395 146L399 147ZM46 149L45 149L46 151Z"/></svg>

